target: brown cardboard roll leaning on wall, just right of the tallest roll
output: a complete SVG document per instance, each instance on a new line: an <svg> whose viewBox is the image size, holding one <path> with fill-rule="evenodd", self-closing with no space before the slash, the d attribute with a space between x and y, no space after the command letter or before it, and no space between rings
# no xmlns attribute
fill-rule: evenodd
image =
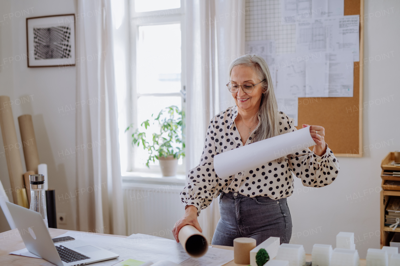
<svg viewBox="0 0 400 266"><path fill-rule="evenodd" d="M35 131L33 130L32 115L18 117L20 125L22 149L24 149L26 171L38 173L39 153L36 145Z"/></svg>

